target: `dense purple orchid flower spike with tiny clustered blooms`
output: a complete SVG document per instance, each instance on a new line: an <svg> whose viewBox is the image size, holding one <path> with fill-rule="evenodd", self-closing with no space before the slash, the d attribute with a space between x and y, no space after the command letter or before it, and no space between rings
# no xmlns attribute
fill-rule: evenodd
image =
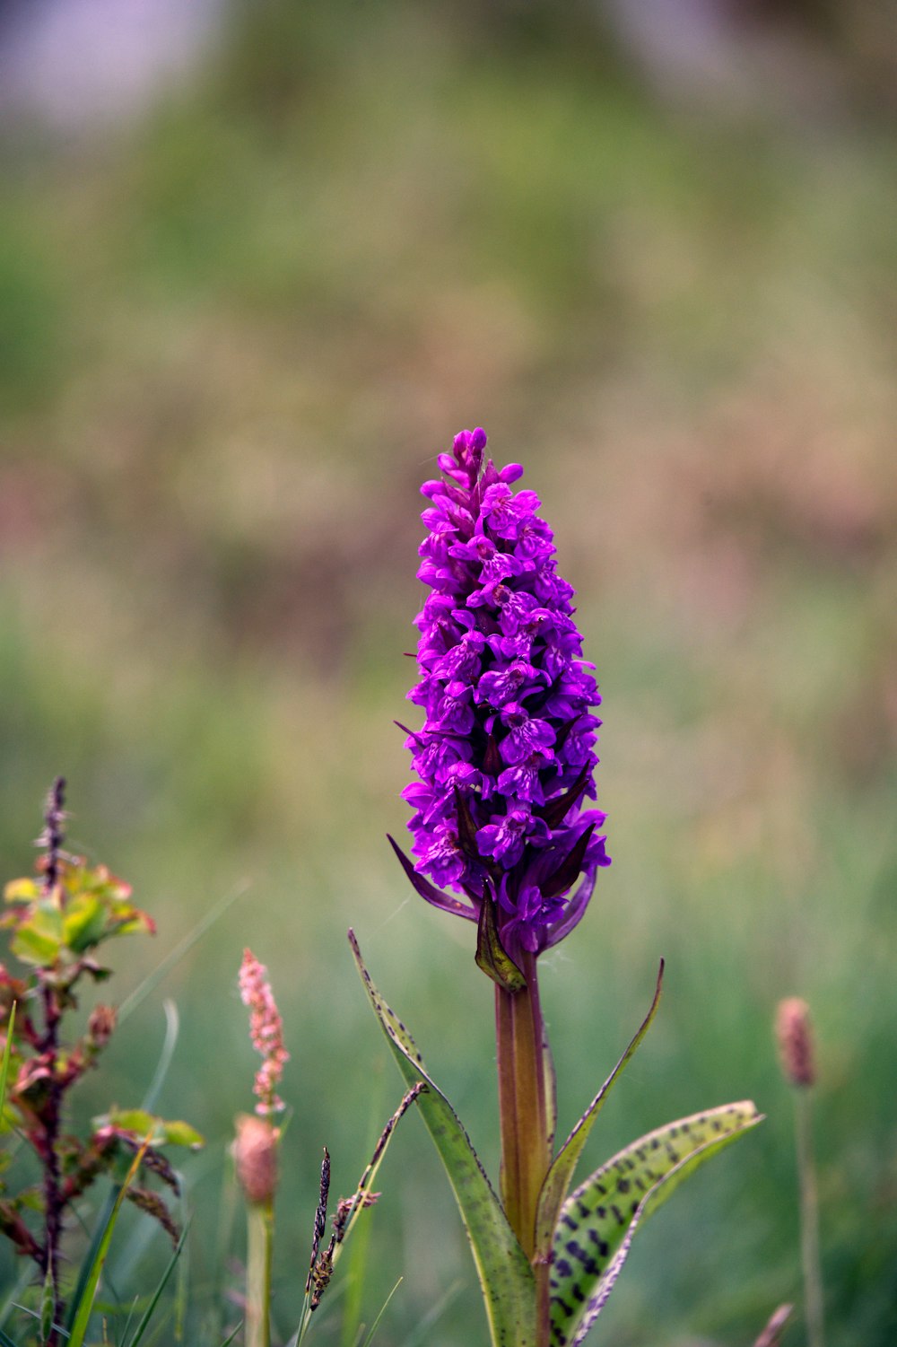
<svg viewBox="0 0 897 1347"><path fill-rule="evenodd" d="M519 962L576 925L610 863L605 815L583 810L601 696L539 497L512 490L523 469L497 470L485 447L484 430L461 431L439 455L443 480L422 488L430 532L418 577L432 593L415 620L420 682L408 696L426 719L407 740L419 777L403 792L413 866L399 855L446 911L494 904ZM424 876L467 901L436 894Z"/></svg>

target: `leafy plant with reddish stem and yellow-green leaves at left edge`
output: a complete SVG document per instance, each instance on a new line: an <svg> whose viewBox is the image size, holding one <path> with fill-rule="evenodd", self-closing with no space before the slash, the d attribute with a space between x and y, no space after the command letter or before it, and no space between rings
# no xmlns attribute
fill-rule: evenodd
<svg viewBox="0 0 897 1347"><path fill-rule="evenodd" d="M186 1122L166 1122L141 1109L110 1109L93 1118L86 1136L69 1127L69 1099L96 1067L116 1028L113 1006L96 1005L86 1032L67 1041L67 1017L78 1009L81 985L104 983L110 970L98 962L101 946L116 936L152 933L154 923L135 907L131 889L105 866L89 866L63 851L65 781L50 792L36 877L15 880L4 892L9 954L22 966L0 964L0 1028L4 1033L4 1099L0 1130L0 1231L35 1263L40 1280L38 1334L42 1347L84 1340L90 1311L123 1202L131 1202L166 1230L176 1245L178 1223L163 1195L179 1192L163 1154L168 1145L199 1146ZM8 1187L13 1137L38 1162L38 1181ZM81 1276L65 1294L65 1237L75 1208L101 1177L116 1197L101 1224Z"/></svg>

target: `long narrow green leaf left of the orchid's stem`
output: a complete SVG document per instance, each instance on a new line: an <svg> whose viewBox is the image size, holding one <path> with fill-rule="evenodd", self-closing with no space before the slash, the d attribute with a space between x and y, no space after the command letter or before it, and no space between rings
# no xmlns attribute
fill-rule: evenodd
<svg viewBox="0 0 897 1347"><path fill-rule="evenodd" d="M411 1034L370 981L352 931L349 943L370 1005L405 1083L413 1086L423 1080L427 1084L418 1107L446 1167L467 1231L493 1347L532 1347L536 1336L535 1280L527 1255L508 1224L458 1115L427 1075Z"/></svg>

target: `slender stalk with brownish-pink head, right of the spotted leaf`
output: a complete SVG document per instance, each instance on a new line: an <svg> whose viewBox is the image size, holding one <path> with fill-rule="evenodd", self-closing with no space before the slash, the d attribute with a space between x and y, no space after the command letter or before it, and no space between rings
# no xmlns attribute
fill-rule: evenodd
<svg viewBox="0 0 897 1347"><path fill-rule="evenodd" d="M824 1303L819 1257L819 1197L812 1136L812 1086L816 1061L809 1030L809 1006L799 997L781 1001L776 1037L785 1080L795 1088L795 1141L800 1185L800 1251L804 1272L807 1342L824 1347Z"/></svg>

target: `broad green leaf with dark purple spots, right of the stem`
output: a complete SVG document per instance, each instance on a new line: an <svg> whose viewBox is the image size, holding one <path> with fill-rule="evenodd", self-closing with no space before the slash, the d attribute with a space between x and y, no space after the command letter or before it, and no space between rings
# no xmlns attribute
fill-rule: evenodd
<svg viewBox="0 0 897 1347"><path fill-rule="evenodd" d="M723 1146L762 1121L750 1100L667 1123L576 1188L552 1243L551 1343L578 1347L601 1313L640 1222Z"/></svg>

